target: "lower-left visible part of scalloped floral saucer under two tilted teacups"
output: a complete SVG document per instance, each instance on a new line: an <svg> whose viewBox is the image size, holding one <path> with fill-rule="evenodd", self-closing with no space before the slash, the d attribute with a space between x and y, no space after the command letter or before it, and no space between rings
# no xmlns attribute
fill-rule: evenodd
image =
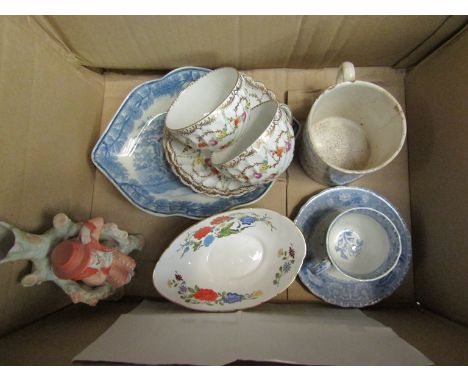
<svg viewBox="0 0 468 382"><path fill-rule="evenodd" d="M195 192L230 198L256 189L256 186L241 183L219 172L211 165L211 152L193 149L173 138L167 131L164 134L164 149L174 173Z"/></svg>

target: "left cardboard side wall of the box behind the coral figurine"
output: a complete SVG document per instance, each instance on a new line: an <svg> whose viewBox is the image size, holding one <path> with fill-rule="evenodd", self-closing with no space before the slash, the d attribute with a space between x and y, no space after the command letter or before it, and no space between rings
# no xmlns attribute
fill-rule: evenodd
<svg viewBox="0 0 468 382"><path fill-rule="evenodd" d="M54 214L91 212L102 78L72 63L34 19L0 17L0 220L41 232ZM85 111L85 112L84 112ZM26 262L0 267L0 334L66 304L46 283L25 289Z"/></svg>

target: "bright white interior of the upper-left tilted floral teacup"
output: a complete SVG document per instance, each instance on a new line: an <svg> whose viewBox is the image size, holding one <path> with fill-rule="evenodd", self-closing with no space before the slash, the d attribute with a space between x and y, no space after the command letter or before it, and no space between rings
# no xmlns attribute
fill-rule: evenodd
<svg viewBox="0 0 468 382"><path fill-rule="evenodd" d="M183 90L169 108L166 127L178 130L191 126L210 115L221 105L238 81L234 68L213 70Z"/></svg>

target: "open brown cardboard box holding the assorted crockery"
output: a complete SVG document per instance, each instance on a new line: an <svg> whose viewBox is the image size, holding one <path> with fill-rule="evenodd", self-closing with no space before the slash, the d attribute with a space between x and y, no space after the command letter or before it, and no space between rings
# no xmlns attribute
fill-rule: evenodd
<svg viewBox="0 0 468 382"><path fill-rule="evenodd" d="M92 165L100 132L136 85L179 66L237 67L299 119L352 61L359 79L406 109L408 139L391 165L355 185L387 197L411 225L413 268L365 313L437 364L468 363L467 17L0 17L0 220L42 232L51 217L103 216L146 240L121 302L72 306L52 284L23 288L26 262L0 266L0 364L69 364L132 299L158 299L152 269L193 221L136 209ZM253 32L254 31L254 32ZM294 218L323 189L295 161L255 206ZM129 302L130 299L130 302ZM320 304L300 282L277 303ZM75 326L73 346L64 340ZM53 338L46 346L44 336ZM30 341L24 352L23 340ZM52 345L51 345L52 344ZM176 360L174 361L176 363ZM339 361L337 361L339 363Z"/></svg>

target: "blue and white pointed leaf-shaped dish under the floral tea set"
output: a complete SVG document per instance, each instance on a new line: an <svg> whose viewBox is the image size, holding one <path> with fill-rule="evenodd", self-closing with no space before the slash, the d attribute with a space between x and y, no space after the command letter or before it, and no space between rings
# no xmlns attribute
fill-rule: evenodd
<svg viewBox="0 0 468 382"><path fill-rule="evenodd" d="M203 219L262 198L271 184L245 195L218 198L192 191L173 174L163 148L164 118L175 97L209 69L176 69L136 87L91 154L96 167L136 207L158 216Z"/></svg>

